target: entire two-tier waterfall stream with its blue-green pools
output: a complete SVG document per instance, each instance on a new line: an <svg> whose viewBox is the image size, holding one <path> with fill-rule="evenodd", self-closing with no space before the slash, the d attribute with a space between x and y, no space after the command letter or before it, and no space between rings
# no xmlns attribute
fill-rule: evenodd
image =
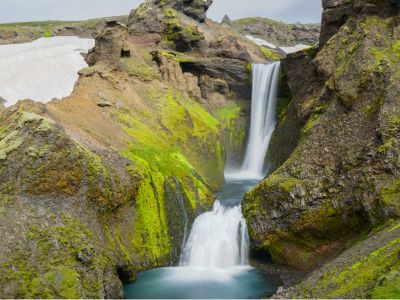
<svg viewBox="0 0 400 300"><path fill-rule="evenodd" d="M250 136L240 170L227 173L227 183L212 211L195 220L177 267L138 274L125 285L126 298L244 299L275 293L274 278L249 265L249 237L241 201L264 176L264 159L276 123L279 63L253 65Z"/></svg>

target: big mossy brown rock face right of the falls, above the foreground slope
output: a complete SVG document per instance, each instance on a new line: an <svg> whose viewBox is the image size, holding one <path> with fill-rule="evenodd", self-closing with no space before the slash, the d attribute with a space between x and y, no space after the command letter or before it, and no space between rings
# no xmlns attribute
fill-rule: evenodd
<svg viewBox="0 0 400 300"><path fill-rule="evenodd" d="M293 99L279 126L295 150L244 202L255 249L276 262L313 269L400 216L397 24L352 17L283 62Z"/></svg>

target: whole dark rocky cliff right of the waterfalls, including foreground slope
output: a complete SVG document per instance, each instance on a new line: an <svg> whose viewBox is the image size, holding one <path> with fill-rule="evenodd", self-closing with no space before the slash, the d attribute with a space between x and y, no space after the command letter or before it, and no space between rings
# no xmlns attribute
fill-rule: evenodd
<svg viewBox="0 0 400 300"><path fill-rule="evenodd" d="M254 251L303 270L356 249L400 216L400 6L323 4L319 47L283 61L291 102L268 154L274 172L244 201ZM388 262L398 255L398 231L379 236L291 296L365 298L386 286L396 298L398 264Z"/></svg>

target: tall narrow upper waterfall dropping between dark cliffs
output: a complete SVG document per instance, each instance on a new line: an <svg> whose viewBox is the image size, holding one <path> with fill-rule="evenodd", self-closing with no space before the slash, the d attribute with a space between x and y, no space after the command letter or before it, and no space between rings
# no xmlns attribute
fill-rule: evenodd
<svg viewBox="0 0 400 300"><path fill-rule="evenodd" d="M264 160L277 121L279 70L280 62L252 66L250 134L242 168L235 178L262 179L266 175Z"/></svg>

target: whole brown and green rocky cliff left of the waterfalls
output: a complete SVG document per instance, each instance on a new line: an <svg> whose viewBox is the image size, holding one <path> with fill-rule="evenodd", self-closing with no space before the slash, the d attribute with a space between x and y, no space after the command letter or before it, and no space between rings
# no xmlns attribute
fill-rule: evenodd
<svg viewBox="0 0 400 300"><path fill-rule="evenodd" d="M0 108L2 297L121 298L177 261L240 157L249 62L268 61L200 2L108 20L70 97Z"/></svg>

